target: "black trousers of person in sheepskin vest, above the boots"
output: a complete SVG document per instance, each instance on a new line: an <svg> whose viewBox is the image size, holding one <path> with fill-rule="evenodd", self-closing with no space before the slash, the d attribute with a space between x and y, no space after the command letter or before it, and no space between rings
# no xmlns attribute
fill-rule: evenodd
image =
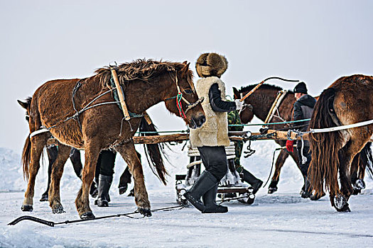
<svg viewBox="0 0 373 248"><path fill-rule="evenodd" d="M220 181L228 170L225 147L198 147L198 151L200 151L206 171L209 171L217 181Z"/></svg>

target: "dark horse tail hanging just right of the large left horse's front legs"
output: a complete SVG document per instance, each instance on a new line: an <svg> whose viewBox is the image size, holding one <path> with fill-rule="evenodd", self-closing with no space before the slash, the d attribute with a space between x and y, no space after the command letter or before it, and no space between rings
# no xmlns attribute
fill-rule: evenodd
<svg viewBox="0 0 373 248"><path fill-rule="evenodd" d="M153 123L148 124L144 117L141 118L139 130L140 132L152 132L141 134L144 136L158 135L156 126L153 125ZM163 184L166 185L166 175L168 175L168 172L166 171L163 162L163 156L165 156L163 146L161 146L160 144L146 144L144 145L144 150L146 159L148 160L148 164L151 167L151 171L153 171L153 174L156 175L158 179L160 179ZM154 169L156 170L156 172L154 171Z"/></svg>

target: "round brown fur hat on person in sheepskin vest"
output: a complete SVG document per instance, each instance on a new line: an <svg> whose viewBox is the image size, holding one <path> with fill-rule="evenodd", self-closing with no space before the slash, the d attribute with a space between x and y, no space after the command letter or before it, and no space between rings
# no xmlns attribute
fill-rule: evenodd
<svg viewBox="0 0 373 248"><path fill-rule="evenodd" d="M215 52L207 52L198 57L195 69L200 77L221 77L228 68L227 59Z"/></svg>

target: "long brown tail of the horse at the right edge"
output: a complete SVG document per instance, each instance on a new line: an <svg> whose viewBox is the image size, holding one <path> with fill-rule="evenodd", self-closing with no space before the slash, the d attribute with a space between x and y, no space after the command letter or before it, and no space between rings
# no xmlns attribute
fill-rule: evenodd
<svg viewBox="0 0 373 248"><path fill-rule="evenodd" d="M335 89L328 88L318 98L310 120L309 128L331 128L339 122L334 111ZM316 193L325 188L333 195L337 195L339 149L342 143L340 132L310 133L310 151L312 159L308 169L310 184Z"/></svg>

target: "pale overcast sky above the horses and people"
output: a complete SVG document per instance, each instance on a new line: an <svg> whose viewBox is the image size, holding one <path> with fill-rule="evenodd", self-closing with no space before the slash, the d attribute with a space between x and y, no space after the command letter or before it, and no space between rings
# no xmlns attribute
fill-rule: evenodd
<svg viewBox="0 0 373 248"><path fill-rule="evenodd" d="M341 0L0 0L0 147L21 153L29 133L17 99L113 62L188 60L195 72L201 53L218 52L229 62L227 94L279 76L318 95L341 76L373 74L372 11L373 1ZM163 103L149 113L161 130L185 130Z"/></svg>

